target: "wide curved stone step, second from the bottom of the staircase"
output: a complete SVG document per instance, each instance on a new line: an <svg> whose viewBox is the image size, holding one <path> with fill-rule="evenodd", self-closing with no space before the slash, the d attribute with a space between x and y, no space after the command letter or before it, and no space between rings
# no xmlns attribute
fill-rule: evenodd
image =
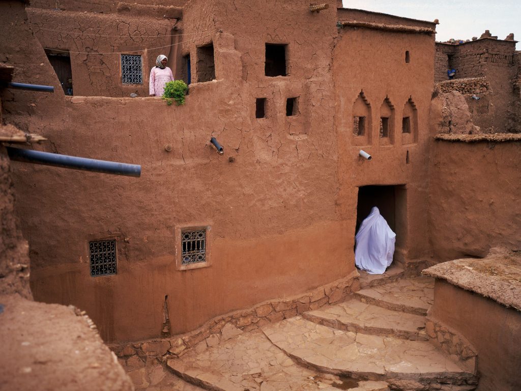
<svg viewBox="0 0 521 391"><path fill-rule="evenodd" d="M472 373L425 341L335 330L301 316L266 325L263 332L289 357L326 373L383 380L405 391L471 390L477 384Z"/></svg>

